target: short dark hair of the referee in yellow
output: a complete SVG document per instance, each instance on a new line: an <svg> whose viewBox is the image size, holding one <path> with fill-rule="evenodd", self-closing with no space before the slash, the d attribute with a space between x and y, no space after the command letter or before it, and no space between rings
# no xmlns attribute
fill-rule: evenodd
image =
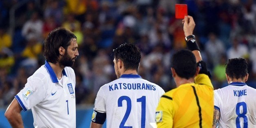
<svg viewBox="0 0 256 128"><path fill-rule="evenodd" d="M189 50L180 50L172 56L172 68L181 78L189 79L196 74L196 57Z"/></svg>

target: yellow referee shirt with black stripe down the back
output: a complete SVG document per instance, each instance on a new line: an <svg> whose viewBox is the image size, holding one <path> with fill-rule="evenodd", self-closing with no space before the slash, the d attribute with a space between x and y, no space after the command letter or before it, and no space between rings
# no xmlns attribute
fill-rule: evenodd
<svg viewBox="0 0 256 128"><path fill-rule="evenodd" d="M163 94L156 110L157 128L212 128L213 100L210 78L199 74L195 83Z"/></svg>

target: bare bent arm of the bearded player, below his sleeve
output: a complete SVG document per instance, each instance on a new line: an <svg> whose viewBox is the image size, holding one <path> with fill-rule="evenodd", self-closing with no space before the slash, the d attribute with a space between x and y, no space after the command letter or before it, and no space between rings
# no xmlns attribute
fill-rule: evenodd
<svg viewBox="0 0 256 128"><path fill-rule="evenodd" d="M17 99L13 99L9 107L7 108L4 116L8 119L12 128L24 128L20 111L22 110Z"/></svg>

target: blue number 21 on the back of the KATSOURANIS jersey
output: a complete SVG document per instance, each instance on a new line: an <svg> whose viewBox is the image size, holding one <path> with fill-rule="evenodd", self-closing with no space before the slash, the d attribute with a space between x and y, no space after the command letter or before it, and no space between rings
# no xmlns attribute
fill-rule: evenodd
<svg viewBox="0 0 256 128"><path fill-rule="evenodd" d="M124 118L121 121L121 124L119 126L119 128L132 128L132 126L124 126L125 122L127 121L131 109L132 109L132 102L130 97L128 96L121 96L118 98L118 107L123 106L122 102L123 100L126 100L127 103L127 109L126 109L126 113L124 114ZM142 96L139 99L137 99L137 102L141 102L141 128L145 128L145 120L146 120L146 96Z"/></svg>

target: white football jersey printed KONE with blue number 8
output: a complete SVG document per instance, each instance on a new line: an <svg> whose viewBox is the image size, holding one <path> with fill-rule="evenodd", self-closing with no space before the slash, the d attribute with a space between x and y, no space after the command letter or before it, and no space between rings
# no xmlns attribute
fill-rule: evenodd
<svg viewBox="0 0 256 128"><path fill-rule="evenodd" d="M220 111L219 128L256 128L256 89L245 83L214 90L214 108Z"/></svg>

